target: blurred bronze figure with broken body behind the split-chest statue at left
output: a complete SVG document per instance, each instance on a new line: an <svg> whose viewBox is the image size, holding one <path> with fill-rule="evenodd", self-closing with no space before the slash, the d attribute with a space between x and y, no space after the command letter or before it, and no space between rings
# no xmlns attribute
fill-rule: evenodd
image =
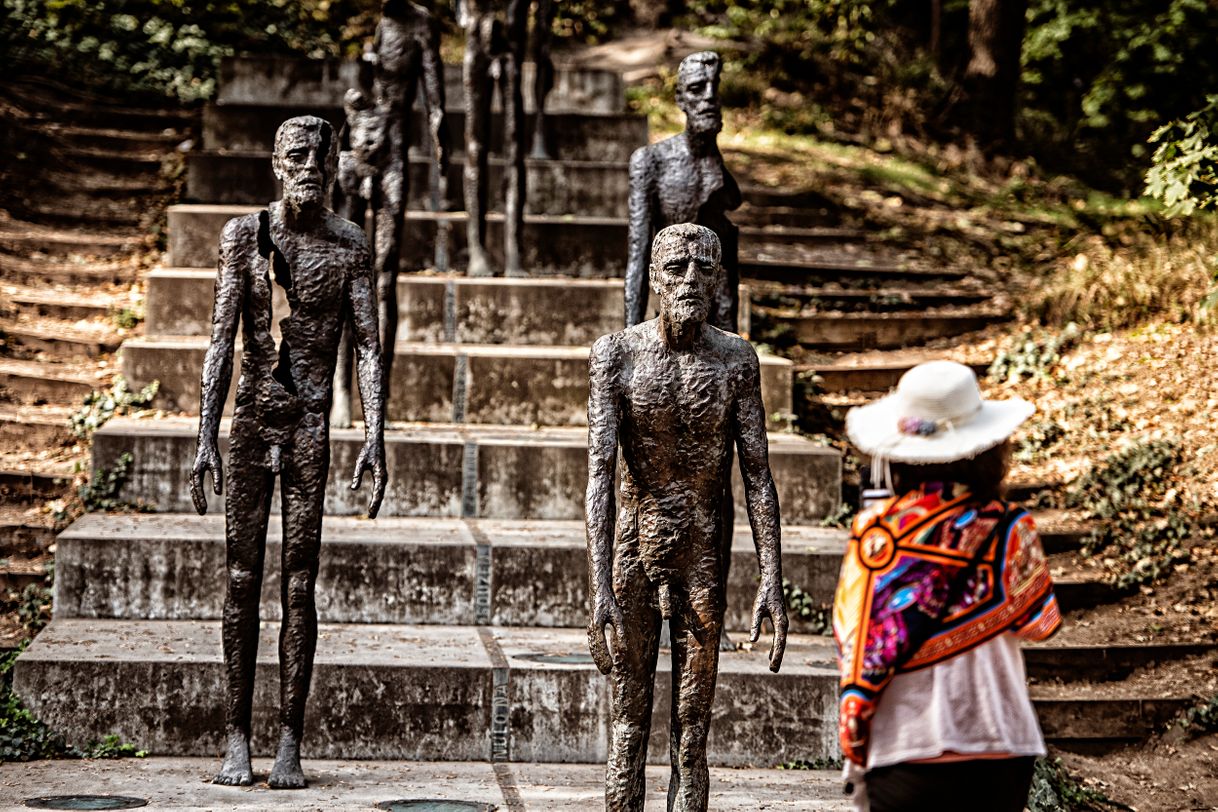
<svg viewBox="0 0 1218 812"><path fill-rule="evenodd" d="M340 156L335 211L361 226L370 225L380 302L381 366L387 386L393 369L397 274L409 192L409 116L420 84L436 168L431 197L446 196L448 124L435 16L410 0L385 0L373 50L365 60L371 68L370 91L352 89L343 100L348 144ZM370 223L365 212L371 213ZM341 427L351 425L350 335L339 353L331 421Z"/></svg>

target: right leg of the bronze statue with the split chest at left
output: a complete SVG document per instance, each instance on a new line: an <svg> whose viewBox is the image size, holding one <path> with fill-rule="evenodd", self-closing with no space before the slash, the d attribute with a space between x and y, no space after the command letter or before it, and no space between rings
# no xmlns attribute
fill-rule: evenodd
<svg viewBox="0 0 1218 812"><path fill-rule="evenodd" d="M325 421L306 414L285 455L280 478L283 498L283 572L280 600L284 620L279 628L279 750L267 783L274 789L304 786L301 738L304 705L313 678L317 650L318 556L322 548L322 513L330 467Z"/></svg>

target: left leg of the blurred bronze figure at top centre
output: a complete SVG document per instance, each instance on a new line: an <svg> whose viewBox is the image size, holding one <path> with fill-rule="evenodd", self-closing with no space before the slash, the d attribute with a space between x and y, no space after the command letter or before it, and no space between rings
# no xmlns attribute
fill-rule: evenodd
<svg viewBox="0 0 1218 812"><path fill-rule="evenodd" d="M487 149L491 139L491 57L487 44L477 34L465 43L463 79L465 83L465 225L469 243L470 276L491 276L486 256L486 184Z"/></svg>

